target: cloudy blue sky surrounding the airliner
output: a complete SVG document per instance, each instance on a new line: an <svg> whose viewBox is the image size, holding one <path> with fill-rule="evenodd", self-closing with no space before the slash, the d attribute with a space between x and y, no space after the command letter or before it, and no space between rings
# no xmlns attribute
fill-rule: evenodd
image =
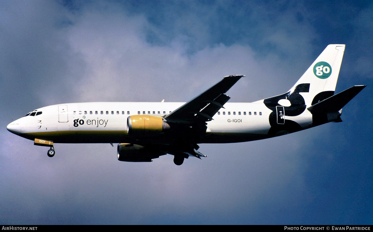
<svg viewBox="0 0 373 232"><path fill-rule="evenodd" d="M372 224L371 1L0 1L0 224ZM202 144L173 164L116 159L6 125L51 104L188 101L243 74L230 102L285 93L346 44L336 92L368 85L341 123Z"/></svg>

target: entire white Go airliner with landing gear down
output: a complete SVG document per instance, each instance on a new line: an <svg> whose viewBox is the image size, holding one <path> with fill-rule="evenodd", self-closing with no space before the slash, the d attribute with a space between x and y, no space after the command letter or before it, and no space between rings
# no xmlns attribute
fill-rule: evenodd
<svg viewBox="0 0 373 232"><path fill-rule="evenodd" d="M245 142L341 122L342 107L366 85L334 95L344 44L330 44L287 92L252 103L226 103L225 93L243 76L222 81L187 103L90 102L36 109L7 126L34 145L119 143L120 161L151 162L165 154L181 165L206 157L201 143Z"/></svg>

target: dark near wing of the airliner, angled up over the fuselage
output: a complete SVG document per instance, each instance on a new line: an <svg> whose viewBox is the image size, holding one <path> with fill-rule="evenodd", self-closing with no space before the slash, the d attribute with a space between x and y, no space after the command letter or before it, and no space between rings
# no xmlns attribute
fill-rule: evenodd
<svg viewBox="0 0 373 232"><path fill-rule="evenodd" d="M230 99L225 93L244 75L226 76L222 81L166 115L167 122L208 122Z"/></svg>

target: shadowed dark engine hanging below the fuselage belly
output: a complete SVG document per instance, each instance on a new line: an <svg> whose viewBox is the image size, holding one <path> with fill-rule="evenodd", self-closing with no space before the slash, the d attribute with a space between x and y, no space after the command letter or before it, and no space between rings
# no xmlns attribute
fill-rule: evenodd
<svg viewBox="0 0 373 232"><path fill-rule="evenodd" d="M137 144L121 143L118 144L117 154L119 161L151 162L151 159L159 158L159 156L162 156L165 153L150 150L147 147Z"/></svg>

